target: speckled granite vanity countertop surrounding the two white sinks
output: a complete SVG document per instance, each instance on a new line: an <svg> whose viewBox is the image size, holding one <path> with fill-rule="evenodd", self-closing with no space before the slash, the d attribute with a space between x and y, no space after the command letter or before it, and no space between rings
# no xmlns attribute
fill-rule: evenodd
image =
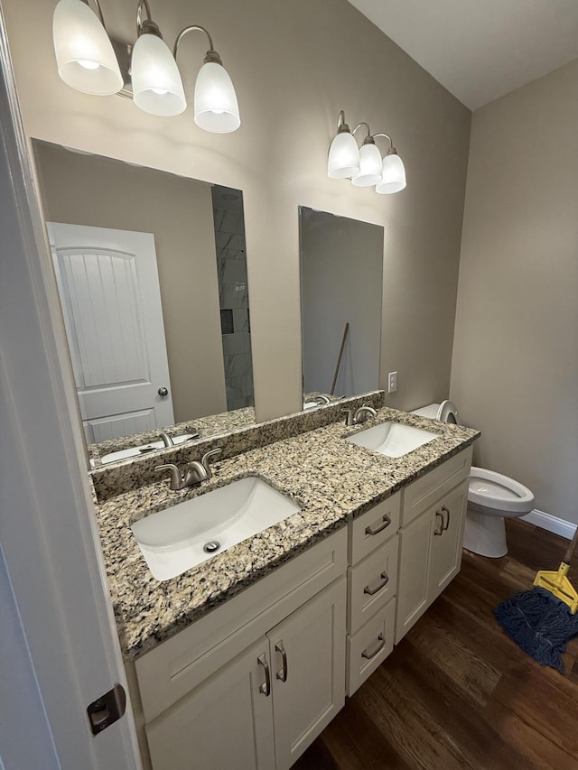
<svg viewBox="0 0 578 770"><path fill-rule="evenodd" d="M401 458L358 447L347 436L378 422L405 422L438 432ZM347 428L333 422L294 438L213 462L213 478L172 492L168 480L107 499L98 526L121 648L132 660L176 634L210 609L309 548L351 518L465 449L480 431L398 412ZM155 580L130 525L155 511L209 492L237 478L258 476L301 506L300 513L219 553L172 580Z"/></svg>

